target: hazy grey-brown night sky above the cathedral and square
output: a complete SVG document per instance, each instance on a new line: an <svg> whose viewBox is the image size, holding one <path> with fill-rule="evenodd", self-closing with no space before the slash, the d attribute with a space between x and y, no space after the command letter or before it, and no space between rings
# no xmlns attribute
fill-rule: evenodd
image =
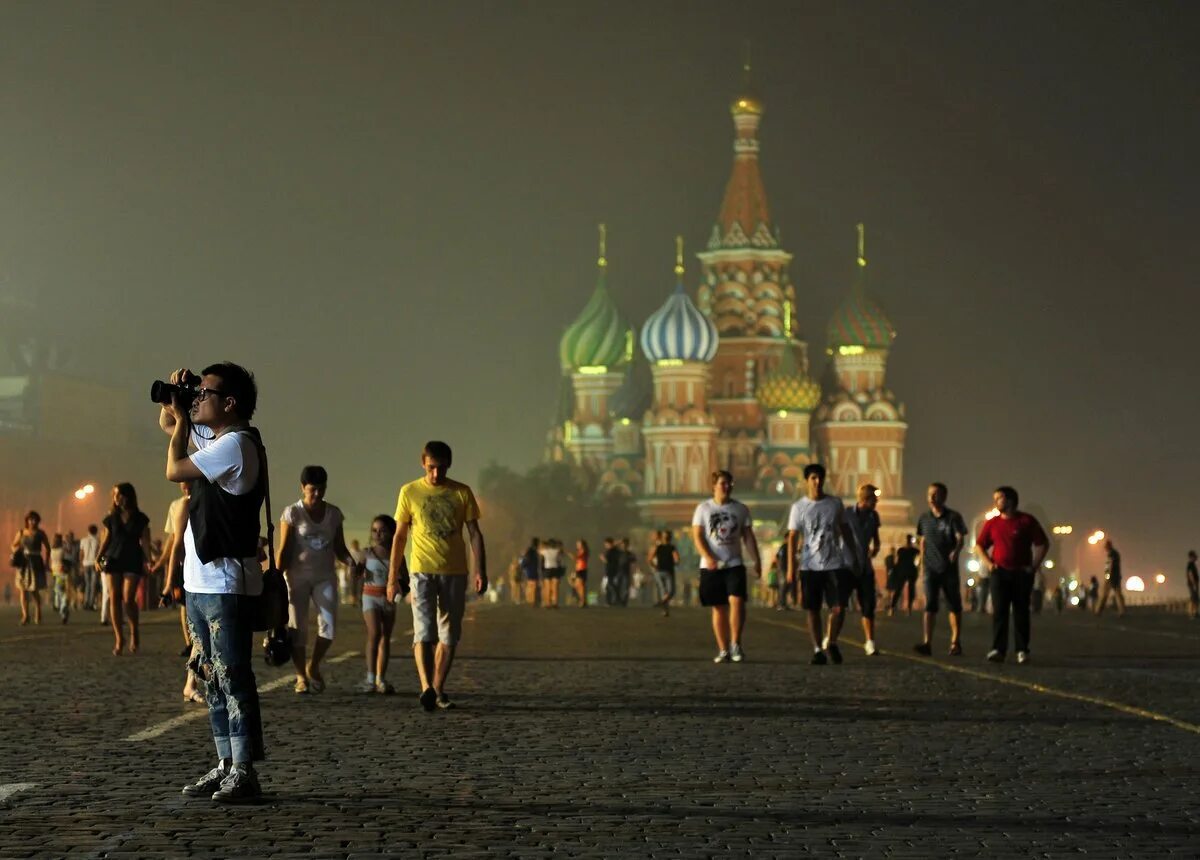
<svg viewBox="0 0 1200 860"><path fill-rule="evenodd" d="M541 451L594 282L641 323L707 239L740 40L816 362L868 225L907 489L1014 483L1127 573L1200 545L1189 2L0 4L0 289L142 396L230 357L280 501L421 443ZM148 408L146 421L154 421Z"/></svg>

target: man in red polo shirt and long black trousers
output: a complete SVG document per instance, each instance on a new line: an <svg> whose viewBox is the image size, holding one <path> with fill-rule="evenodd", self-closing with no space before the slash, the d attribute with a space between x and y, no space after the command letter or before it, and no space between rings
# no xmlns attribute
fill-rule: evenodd
<svg viewBox="0 0 1200 860"><path fill-rule="evenodd" d="M1008 652L1008 611L1013 611L1016 662L1030 662L1030 600L1033 575L1050 549L1046 533L1036 518L1016 510L1016 491L1000 487L991 494L998 517L983 524L976 552L991 571L991 650L988 661L1004 662Z"/></svg>

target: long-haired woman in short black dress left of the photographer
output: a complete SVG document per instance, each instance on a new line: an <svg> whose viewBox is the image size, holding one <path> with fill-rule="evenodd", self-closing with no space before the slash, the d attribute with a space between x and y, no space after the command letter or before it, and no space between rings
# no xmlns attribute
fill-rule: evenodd
<svg viewBox="0 0 1200 860"><path fill-rule="evenodd" d="M140 644L137 594L150 561L150 518L138 510L138 492L132 483L113 487L113 510L101 529L100 558L108 579L109 617L116 636L113 654L120 656L125 649L122 614L130 620L130 652L137 654Z"/></svg>

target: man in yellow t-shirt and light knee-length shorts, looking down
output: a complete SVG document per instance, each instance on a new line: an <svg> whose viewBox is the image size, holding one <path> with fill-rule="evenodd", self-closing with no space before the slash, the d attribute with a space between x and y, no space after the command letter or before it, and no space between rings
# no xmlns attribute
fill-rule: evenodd
<svg viewBox="0 0 1200 860"><path fill-rule="evenodd" d="M396 539L388 565L388 601L401 591L398 572L409 537L413 552L408 561L413 589L413 656L421 681L421 706L454 708L445 682L462 638L462 617L467 608L467 527L475 557L475 594L487 590L487 555L484 533L479 530L479 504L470 487L446 477L452 459L444 441L426 443L421 452L425 477L400 488L396 501ZM434 643L437 646L434 648Z"/></svg>

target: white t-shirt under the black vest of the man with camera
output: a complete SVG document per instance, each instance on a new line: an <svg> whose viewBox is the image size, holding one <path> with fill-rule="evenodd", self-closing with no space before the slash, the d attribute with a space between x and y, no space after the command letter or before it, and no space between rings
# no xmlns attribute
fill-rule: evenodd
<svg viewBox="0 0 1200 860"><path fill-rule="evenodd" d="M220 439L203 437L193 428L192 444L196 451L191 461L200 474L221 489L233 495L245 495L258 482L258 446L247 433L226 433ZM258 559L212 559L200 564L188 518L184 531L184 588L194 594L247 594L263 593L263 567ZM242 590L245 567L245 591Z"/></svg>

